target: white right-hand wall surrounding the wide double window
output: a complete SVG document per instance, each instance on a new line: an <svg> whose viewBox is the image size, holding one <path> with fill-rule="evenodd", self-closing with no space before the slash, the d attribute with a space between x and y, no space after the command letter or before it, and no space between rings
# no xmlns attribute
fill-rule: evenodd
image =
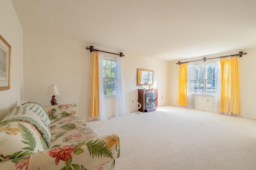
<svg viewBox="0 0 256 170"><path fill-rule="evenodd" d="M256 48L253 49L241 49L236 51L229 51L225 53L219 53L214 55L207 55L202 57L196 57L193 59L184 59L184 61L193 61L203 59L203 57L213 58L232 54L238 54L239 51L244 51L247 54L240 58L240 99L241 99L241 114L242 117L248 117L256 119ZM214 59L206 60L206 63L214 62ZM179 66L176 64L178 61L172 61L169 63L170 70L170 104L177 105L178 96L178 72ZM198 61L194 63L204 63ZM207 102L207 99L209 102ZM209 95L194 95L194 108L205 111L215 111L215 97Z"/></svg>

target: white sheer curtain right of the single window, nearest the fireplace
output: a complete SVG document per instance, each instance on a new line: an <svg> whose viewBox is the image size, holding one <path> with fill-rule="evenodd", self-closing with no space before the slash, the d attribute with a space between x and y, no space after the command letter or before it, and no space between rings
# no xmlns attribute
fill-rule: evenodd
<svg viewBox="0 0 256 170"><path fill-rule="evenodd" d="M122 69L122 57L116 58L116 109L115 116L123 115L125 110L124 102L124 76Z"/></svg>

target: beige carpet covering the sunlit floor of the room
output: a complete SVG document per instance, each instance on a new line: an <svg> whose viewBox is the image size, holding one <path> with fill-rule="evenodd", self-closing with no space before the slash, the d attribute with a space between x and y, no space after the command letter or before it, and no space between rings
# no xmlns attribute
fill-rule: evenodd
<svg viewBox="0 0 256 170"><path fill-rule="evenodd" d="M115 170L256 170L256 120L162 106L86 124L116 133Z"/></svg>

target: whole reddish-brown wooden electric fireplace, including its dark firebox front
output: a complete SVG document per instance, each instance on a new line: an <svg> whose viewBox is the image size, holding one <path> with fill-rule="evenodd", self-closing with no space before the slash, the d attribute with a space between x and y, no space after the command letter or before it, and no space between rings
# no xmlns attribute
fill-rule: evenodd
<svg viewBox="0 0 256 170"><path fill-rule="evenodd" d="M158 89L138 89L138 100L138 102L141 104L139 111L155 111L158 108Z"/></svg>

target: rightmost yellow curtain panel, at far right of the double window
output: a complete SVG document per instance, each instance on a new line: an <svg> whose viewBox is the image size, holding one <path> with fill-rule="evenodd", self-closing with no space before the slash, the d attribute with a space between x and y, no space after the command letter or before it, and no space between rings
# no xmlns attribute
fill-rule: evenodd
<svg viewBox="0 0 256 170"><path fill-rule="evenodd" d="M240 114L239 57L231 59L231 113Z"/></svg>

